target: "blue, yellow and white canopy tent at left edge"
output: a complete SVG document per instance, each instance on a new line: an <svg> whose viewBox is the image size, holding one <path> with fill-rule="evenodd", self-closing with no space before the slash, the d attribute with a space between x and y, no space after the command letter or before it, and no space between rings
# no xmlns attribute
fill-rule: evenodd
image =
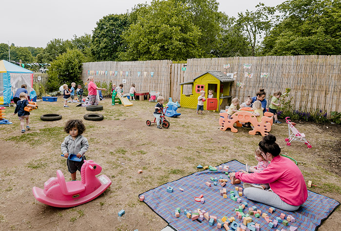
<svg viewBox="0 0 341 231"><path fill-rule="evenodd" d="M30 93L33 87L33 72L5 60L0 60L0 104L10 104L22 84Z"/></svg>

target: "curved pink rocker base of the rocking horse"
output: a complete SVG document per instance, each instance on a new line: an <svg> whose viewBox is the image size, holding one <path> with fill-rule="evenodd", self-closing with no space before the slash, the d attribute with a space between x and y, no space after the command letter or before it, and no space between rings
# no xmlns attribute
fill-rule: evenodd
<svg viewBox="0 0 341 231"><path fill-rule="evenodd" d="M89 193L87 195L81 196L80 194L75 194L72 195L70 194L70 198L74 198L73 200L57 200L48 197L43 189L40 189L38 187L33 187L33 195L36 197L36 199L46 205L57 207L57 208L70 208L70 207L75 207L84 203L87 203L96 197L98 197L100 194L102 194L104 191L106 191L109 186L111 185L111 180L106 176L106 175L100 175L98 179L101 182L101 186L98 187L94 192ZM70 181L67 182L67 184L70 183L76 183L76 181ZM77 182L78 183L78 182Z"/></svg>

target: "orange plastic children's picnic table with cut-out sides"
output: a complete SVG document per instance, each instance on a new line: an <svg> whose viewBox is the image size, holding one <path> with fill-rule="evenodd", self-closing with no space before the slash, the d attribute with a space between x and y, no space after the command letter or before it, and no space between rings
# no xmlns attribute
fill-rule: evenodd
<svg viewBox="0 0 341 231"><path fill-rule="evenodd" d="M236 133L238 132L238 130L233 127L234 123L236 123L237 127L242 127L242 124L240 122L250 122L254 126L253 130L248 132L250 135L256 135L257 132L261 133L261 135L263 136L268 135L268 132L271 131L273 114L270 112L265 112L264 116L262 117L262 122L259 123L257 121L257 117L253 115L251 111L251 108L242 108L240 111L232 115L232 119L228 118L227 112L220 113L220 130L225 131L227 130L227 128L230 128L231 132Z"/></svg>

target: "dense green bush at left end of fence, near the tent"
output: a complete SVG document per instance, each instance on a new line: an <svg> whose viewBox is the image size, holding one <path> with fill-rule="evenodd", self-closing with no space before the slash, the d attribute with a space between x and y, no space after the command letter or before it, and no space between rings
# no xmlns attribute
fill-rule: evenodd
<svg viewBox="0 0 341 231"><path fill-rule="evenodd" d="M84 55L77 49L67 50L51 62L48 71L48 91L57 91L60 85L66 83L71 86L72 82L80 83L82 74L82 62Z"/></svg>

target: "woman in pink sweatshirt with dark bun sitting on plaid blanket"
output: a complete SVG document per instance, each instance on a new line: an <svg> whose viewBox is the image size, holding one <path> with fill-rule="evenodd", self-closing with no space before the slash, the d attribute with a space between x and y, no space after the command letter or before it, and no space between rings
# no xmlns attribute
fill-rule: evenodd
<svg viewBox="0 0 341 231"><path fill-rule="evenodd" d="M270 164L260 173L229 173L245 182L245 196L257 202L286 211L296 211L306 201L308 192L300 169L290 159L280 156L281 148L274 135L267 135L259 142L259 149ZM264 191L256 185L270 185L271 191Z"/></svg>

